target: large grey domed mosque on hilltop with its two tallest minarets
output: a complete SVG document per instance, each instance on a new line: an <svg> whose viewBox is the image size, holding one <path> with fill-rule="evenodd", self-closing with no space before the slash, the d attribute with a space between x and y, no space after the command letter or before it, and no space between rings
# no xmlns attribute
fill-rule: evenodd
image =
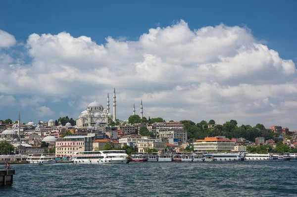
<svg viewBox="0 0 297 197"><path fill-rule="evenodd" d="M78 127L108 125L110 121L116 122L116 100L115 100L115 89L113 90L113 115L109 113L109 95L107 94L107 108L104 109L103 106L97 102L91 102L86 110L81 112L78 119L76 120L76 125Z"/></svg>

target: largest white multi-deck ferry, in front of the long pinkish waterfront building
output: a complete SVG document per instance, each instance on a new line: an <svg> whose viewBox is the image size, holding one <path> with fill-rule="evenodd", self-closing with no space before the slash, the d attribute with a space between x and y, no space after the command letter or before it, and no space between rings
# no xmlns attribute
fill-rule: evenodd
<svg viewBox="0 0 297 197"><path fill-rule="evenodd" d="M75 152L73 163L129 163L131 158L125 150L99 150Z"/></svg>

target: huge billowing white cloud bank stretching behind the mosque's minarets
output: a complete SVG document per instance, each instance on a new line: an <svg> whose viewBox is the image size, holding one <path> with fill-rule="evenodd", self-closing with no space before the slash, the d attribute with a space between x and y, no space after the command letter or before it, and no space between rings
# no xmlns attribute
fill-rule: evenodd
<svg viewBox="0 0 297 197"><path fill-rule="evenodd" d="M70 98L65 105L78 114L94 99L104 105L116 87L121 119L143 99L145 116L166 120L297 127L290 119L297 97L295 63L258 42L247 27L219 24L193 31L181 20L149 29L136 41L108 37L105 44L67 32L32 34L26 49L28 65L2 57L9 66L0 72L1 93Z"/></svg>

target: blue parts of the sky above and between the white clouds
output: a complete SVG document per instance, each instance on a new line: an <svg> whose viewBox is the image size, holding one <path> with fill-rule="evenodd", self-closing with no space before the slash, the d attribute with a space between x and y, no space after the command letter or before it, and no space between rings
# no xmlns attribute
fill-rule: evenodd
<svg viewBox="0 0 297 197"><path fill-rule="evenodd" d="M148 30L150 28L156 29L157 27L166 28L172 27L175 24L178 24L180 20L184 20L188 24L188 28L191 31L195 31L202 27L207 26L218 26L223 23L227 27L235 27L239 26L243 29L246 27L251 31L250 35L255 39L256 43L263 44L267 46L269 49L273 49L279 53L279 57L285 60L292 59L293 62L297 61L297 26L296 26L296 7L297 2L294 0L287 1L276 1L276 0L251 0L251 1L236 1L236 0L228 0L228 1L75 1L75 0L64 0L64 1L8 1L3 0L0 2L0 29L13 35L16 44L10 46L9 48L2 48L3 54L9 54L14 60L9 62L9 64L19 62L21 59L21 66L33 66L34 60L36 60L36 56L38 54L34 53L29 54L28 51L28 37L32 34L51 34L57 35L61 32L66 32L71 35L73 38L78 38L80 36L90 37L93 42L96 42L97 45L103 44L104 46L108 43L106 41L107 37L112 37L118 41L139 41L140 37L143 34L148 34ZM247 30L247 31L249 31ZM183 36L183 35L181 35ZM245 38L243 38L245 39ZM244 42L243 40L241 42ZM206 44L207 45L207 44ZM31 46L31 44L30 44ZM40 47L40 46L39 46ZM58 46L57 46L58 47ZM29 47L30 48L30 47ZM33 47L31 46L31 49ZM40 49L40 48L39 48ZM52 50L50 50L52 51ZM151 50L146 50L146 54L151 52ZM158 56L156 53L154 55ZM218 54L220 56L221 54ZM54 56L51 55L50 58L54 59ZM88 57L89 58L89 57ZM164 58L160 55L162 62L164 63ZM57 59L60 59L57 58ZM139 61L139 58L136 58L136 62ZM66 60L65 60L66 61ZM36 63L37 61L35 61ZM104 61L106 62L106 61ZM64 63L64 60L63 60ZM170 63L170 62L167 62ZM171 62L172 63L172 62ZM204 62L205 63L205 62ZM212 61L213 63L213 61ZM32 64L32 65L31 65ZM107 63L108 64L108 63ZM106 64L106 65L107 65ZM39 62L39 65L41 63ZM93 64L92 64L93 65ZM193 64L194 65L194 64ZM197 65L195 63L195 65ZM6 65L8 66L8 64ZM35 65L36 66L36 65ZM49 66L49 65L47 65ZM69 63L69 66L73 66L73 64ZM33 68L31 67L31 68ZM74 66L75 67L75 66ZM108 67L108 66L107 66ZM21 67L24 68L24 67ZM109 70L113 70L112 66L108 67ZM84 69L83 66L81 69ZM122 68L126 70L127 68ZM263 67L263 69L267 69L267 67ZM269 69L269 68L268 68ZM261 72L260 72L261 73ZM270 73L270 71L266 72ZM273 73L271 71L271 73ZM265 75L265 72L263 72ZM40 76L35 74L35 77ZM285 77L286 76L281 76ZM239 76L237 76L239 78ZM247 77L248 78L248 77ZM251 77L252 78L252 77ZM295 80L295 76L290 78L292 81ZM232 80L235 80L232 78ZM226 87L227 85L233 86L234 81L231 79L227 82L218 84L222 85L222 87ZM99 80L100 81L100 80ZM103 81L103 79L102 79ZM168 79L167 81L170 81ZM231 82L232 81L232 82ZM236 80L235 80L236 81ZM265 81L265 80L264 80ZM181 86L184 89L189 87L198 86L199 84L203 84L205 81L198 82L185 82L185 83L176 83L176 86ZM61 82L62 83L62 82ZM82 82L80 82L82 83ZM119 106L119 117L120 119L127 119L129 117L129 113L126 110L129 110L130 105L133 105L133 102L138 101L137 99L147 100L147 103L144 103L144 106L147 105L149 108L149 113L146 115L150 116L163 116L170 119L183 119L184 113L186 113L189 108L187 108L190 103L183 102L179 107L176 108L179 103L172 102L171 104L164 104L161 101L156 101L157 97L154 94L160 95L163 92L170 92L174 89L171 87L171 84L166 85L162 81L160 84L156 84L154 90L145 91L145 87L135 87L135 91L131 91L130 89L126 90L121 86L117 86L117 83L112 82L108 84L107 82L99 84L94 83L93 85L86 85L86 87L96 88L97 85L100 86L98 88L98 95L89 94L90 89L72 84L67 85L66 87L61 88L61 91L65 89L75 89L76 87L81 88L81 95L66 91L65 94L55 94L55 97L52 97L48 94L41 92L39 89L42 87L33 89L34 91L28 89L28 92L23 92L21 90L26 90L25 87L11 86L12 89L18 89L20 91L4 91L0 90L0 96L4 95L6 97L12 96L15 99L15 103L11 105L3 105L0 106L0 118L17 118L17 112L20 110L22 114L26 114L24 117L24 121L29 121L33 119L37 121L39 119L43 119L47 121L48 118L57 119L59 115L68 114L69 116L76 118L74 116L78 115L80 109L77 107L71 106L69 102L75 103L74 105L79 105L80 102L89 102L88 97L90 98L90 102L93 101L91 99L98 98L102 99L100 101L103 106L105 106L105 94L107 91L109 93L112 92L114 86L118 87L118 92L122 95L130 95L135 99L126 99L122 101L122 106ZM207 82L208 83L208 82ZM210 82L209 82L210 83ZM209 84L208 83L208 84ZM213 82L211 82L213 83ZM266 83L257 84L257 85L269 85L269 84L285 84L284 81L266 81ZM295 81L294 81L295 83ZM294 84L293 83L293 84ZM143 84L149 84L149 82ZM253 84L253 82L245 82L245 84ZM42 84L40 85L42 86ZM134 84L126 84L125 87L134 87ZM293 85L292 85L293 86ZM235 86L234 86L235 87ZM59 87L55 87L57 90ZM141 89L142 88L142 89ZM141 91L140 91L141 89ZM86 90L86 91L84 91ZM92 90L93 92L94 90ZM100 91L104 91L101 93ZM21 92L21 93L18 93ZM294 92L294 91L293 91ZM287 94L287 93L284 93ZM288 93L289 94L289 93ZM83 97L82 95L85 95ZM101 96L102 95L102 96ZM125 95L125 97L128 97ZM148 96L149 95L149 96ZM153 99L146 99L155 96ZM23 104L20 106L20 102L22 99L32 99L35 98L39 100L38 105L30 105ZM288 98L294 98L294 95L288 95ZM104 99L103 99L104 98ZM293 102L294 99L286 100L284 98L273 98L270 95L263 96L261 98L247 100L245 102L245 106L250 103L255 102L265 102L263 101L265 98L269 99L270 104L267 108L257 109L262 110L262 112L269 112L269 110L273 110L272 108L275 105L278 105L281 108L282 103L288 101ZM273 103L272 103L273 102ZM237 103L237 102L236 102ZM51 115L43 115L38 116L35 110L37 107L47 106L51 112ZM198 107L199 104L196 104ZM217 104L210 104L209 107L219 107ZM165 107L162 110L156 110L155 108ZM167 107L167 108L166 108ZM272 108L271 108L272 107ZM156 114L158 113L159 114ZM179 114L176 116L170 116L168 114ZM191 112L195 114L195 111ZM221 121L225 121L223 114L228 113L230 117L232 117L232 111L222 110L222 115L217 116L217 111L203 109L203 114L195 117L193 119L195 122L200 121L202 119L208 119L210 117L217 118L220 123ZM256 123L255 119L248 119L245 122L245 119L251 114L247 115L248 112L245 113L242 117L242 124L254 124ZM188 112L187 112L188 114ZM189 112L190 114L190 112ZM288 113L290 114L290 113ZM253 114L254 115L254 114ZM234 114L234 116L238 116L238 114ZM274 120L279 120L282 115L276 114L274 116ZM186 118L191 118L193 115L185 115ZM205 117L205 118L204 118ZM228 116L229 117L229 116ZM267 116L263 115L263 118L260 120L265 124L265 126L270 126L271 122L266 120ZM290 119L290 117L288 117ZM230 119L236 119L230 118ZM283 124L294 126L291 120L279 121L275 124ZM250 123L248 122L250 121ZM261 122L260 121L260 122ZM241 121L239 121L241 123ZM297 129L297 125L296 125Z"/></svg>

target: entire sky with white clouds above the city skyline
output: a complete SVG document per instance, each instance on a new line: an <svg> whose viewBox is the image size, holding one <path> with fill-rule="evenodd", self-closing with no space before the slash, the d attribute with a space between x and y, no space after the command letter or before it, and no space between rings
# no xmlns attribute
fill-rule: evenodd
<svg viewBox="0 0 297 197"><path fill-rule="evenodd" d="M297 130L297 1L0 1L0 119L117 118Z"/></svg>

